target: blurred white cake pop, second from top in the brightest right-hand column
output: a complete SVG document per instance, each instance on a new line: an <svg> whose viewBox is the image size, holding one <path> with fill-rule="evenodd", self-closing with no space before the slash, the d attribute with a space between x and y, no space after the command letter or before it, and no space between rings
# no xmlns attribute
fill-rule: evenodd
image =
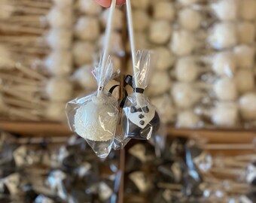
<svg viewBox="0 0 256 203"><path fill-rule="evenodd" d="M209 44L217 50L235 46L238 42L236 25L229 22L216 23L208 40Z"/></svg>

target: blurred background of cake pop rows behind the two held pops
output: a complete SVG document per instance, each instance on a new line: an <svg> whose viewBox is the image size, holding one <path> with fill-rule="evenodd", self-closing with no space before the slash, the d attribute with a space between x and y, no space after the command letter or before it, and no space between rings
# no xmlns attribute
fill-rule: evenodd
<svg viewBox="0 0 256 203"><path fill-rule="evenodd" d="M0 202L256 202L256 0L131 2L162 124L101 160L65 108L97 89L108 9L0 0ZM124 7L110 43L120 77L107 89L133 74Z"/></svg>

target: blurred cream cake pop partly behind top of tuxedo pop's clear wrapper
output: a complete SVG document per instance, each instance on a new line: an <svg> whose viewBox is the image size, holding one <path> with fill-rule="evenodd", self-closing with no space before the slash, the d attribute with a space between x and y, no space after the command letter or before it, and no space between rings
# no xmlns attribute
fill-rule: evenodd
<svg viewBox="0 0 256 203"><path fill-rule="evenodd" d="M175 62L175 57L167 47L157 47L154 51L157 56L157 70L166 71L172 67Z"/></svg>

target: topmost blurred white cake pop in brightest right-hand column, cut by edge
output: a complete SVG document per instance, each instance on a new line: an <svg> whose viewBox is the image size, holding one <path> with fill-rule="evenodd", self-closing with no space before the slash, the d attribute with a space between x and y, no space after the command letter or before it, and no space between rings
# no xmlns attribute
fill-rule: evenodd
<svg viewBox="0 0 256 203"><path fill-rule="evenodd" d="M212 11L219 20L236 20L238 17L239 1L218 0L211 5Z"/></svg>

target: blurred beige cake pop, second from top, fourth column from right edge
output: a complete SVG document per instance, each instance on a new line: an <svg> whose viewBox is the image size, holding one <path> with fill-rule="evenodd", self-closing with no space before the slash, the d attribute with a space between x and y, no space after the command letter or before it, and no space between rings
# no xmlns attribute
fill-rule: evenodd
<svg viewBox="0 0 256 203"><path fill-rule="evenodd" d="M150 24L148 39L154 44L166 44L172 35L172 26L167 20L154 20Z"/></svg>

